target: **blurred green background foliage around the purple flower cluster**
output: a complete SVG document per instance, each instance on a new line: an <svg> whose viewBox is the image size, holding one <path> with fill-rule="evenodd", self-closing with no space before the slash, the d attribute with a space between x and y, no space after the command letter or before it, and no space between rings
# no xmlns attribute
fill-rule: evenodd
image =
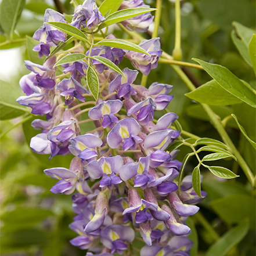
<svg viewBox="0 0 256 256"><path fill-rule="evenodd" d="M29 59L39 64L43 61L38 59L37 53L31 53L31 49L37 44L31 37L35 30L42 26L45 9L64 10L67 15L72 15L74 8L69 2L70 0L27 0L12 39L6 37L3 29L0 29L0 49L19 48L22 54L19 73L9 79L19 91L18 94L22 94L19 78L29 73L23 67L23 60ZM96 2L98 5L101 3L100 0ZM151 7L156 6L154 0L147 0L145 3ZM70 18L67 16L67 19L68 17ZM192 63L192 57L197 57L210 63L221 64L255 88L253 68L241 57L231 37L232 33L236 33L235 27L232 26L233 21L255 29L254 0L181 1L181 21L182 61ZM118 27L113 30L117 38L129 37ZM163 0L158 35L163 51L170 55L174 49L174 33L174 1ZM143 36L150 38L150 31ZM120 64L120 68L127 66L132 68L128 60ZM182 69L196 86L211 80L203 70L190 67ZM184 96L189 89L170 66L158 64L158 68L149 74L147 85L155 81L174 85L174 100L169 104L168 110L178 114L184 130L200 137L221 140L200 104ZM232 113L235 114L248 136L255 141L256 113L253 107L246 103L211 107L221 120ZM160 116L161 114L158 117ZM1 120L1 134L19 121L20 117ZM1 136L1 255L85 255L85 251L69 243L69 240L76 236L68 229L68 224L74 217L70 196L49 192L55 181L43 172L52 167L68 168L71 157L55 156L49 160L48 156L31 152L28 146L30 138L37 134L37 131L30 127L31 121L32 119L23 125L17 125L8 134ZM255 150L241 135L233 118L227 119L226 131L255 175ZM182 161L188 152L188 147L182 146L178 160ZM196 165L196 158L191 158L185 171L191 174ZM191 255L255 255L255 190L251 188L236 161L219 160L219 165L240 176L224 181L202 168L204 178L201 186L208 195L199 205L199 213L188 219L192 228L191 239L194 241ZM237 223L240 224L236 226ZM214 245L217 248L217 243L217 247L223 249L221 254L218 254L218 251L212 252L215 250Z"/></svg>

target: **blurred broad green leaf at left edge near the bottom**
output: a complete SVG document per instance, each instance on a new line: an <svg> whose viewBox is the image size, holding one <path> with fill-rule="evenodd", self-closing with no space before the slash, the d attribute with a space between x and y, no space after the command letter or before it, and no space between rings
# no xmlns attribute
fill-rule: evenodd
<svg viewBox="0 0 256 256"><path fill-rule="evenodd" d="M17 208L14 211L8 211L1 215L4 223L4 230L17 230L23 228L32 228L45 218L52 216L50 210L42 208Z"/></svg>

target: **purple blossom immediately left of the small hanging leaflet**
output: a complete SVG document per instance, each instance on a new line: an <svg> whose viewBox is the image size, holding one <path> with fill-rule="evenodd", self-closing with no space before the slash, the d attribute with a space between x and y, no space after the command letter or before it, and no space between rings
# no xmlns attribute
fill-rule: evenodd
<svg viewBox="0 0 256 256"><path fill-rule="evenodd" d="M65 97L65 104L69 105L73 102L74 98L80 100L81 102L85 102L84 96L82 93L89 93L77 80L73 77L69 79L64 78L62 81L57 84L56 89L62 91L60 93L61 96Z"/></svg>

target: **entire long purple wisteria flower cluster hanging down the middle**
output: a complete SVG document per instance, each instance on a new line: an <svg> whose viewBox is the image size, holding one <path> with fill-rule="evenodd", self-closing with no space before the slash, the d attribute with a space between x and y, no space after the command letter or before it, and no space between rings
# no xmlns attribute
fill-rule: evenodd
<svg viewBox="0 0 256 256"><path fill-rule="evenodd" d="M142 0L125 0L120 10L138 7L148 6ZM154 113L171 102L172 86L134 84L139 71L147 75L157 67L160 40L142 41L138 52L124 46L95 45L93 30L104 20L94 0L78 5L70 24L62 14L46 10L44 25L34 34L39 41L34 51L48 58L43 65L25 62L31 73L20 80L26 96L17 99L30 107L31 113L46 118L32 122L41 133L31 139L30 147L38 154L50 154L50 158L74 156L69 169L44 172L58 181L52 193L72 194L77 215L70 228L78 236L70 243L92 252L86 256L128 255L135 239L145 243L141 256L189 255L193 243L185 220L196 214L199 207L194 204L202 198L194 192L191 176L183 179L178 192L175 178L182 163L175 160L178 150L167 151L180 135L171 128L178 116L167 113L154 120ZM152 20L153 16L145 13L122 22L129 29L145 31ZM56 75L59 57L51 54L51 47L67 37L56 28L57 23L91 33L84 47L76 39L75 52L67 59L77 53L82 58L62 62L62 75ZM115 37L108 35L107 39ZM119 70L123 57L131 60L136 70L113 71L113 67ZM88 101L92 97L95 100ZM87 111L89 118L83 119L82 113ZM94 122L95 129L81 134L84 122Z"/></svg>

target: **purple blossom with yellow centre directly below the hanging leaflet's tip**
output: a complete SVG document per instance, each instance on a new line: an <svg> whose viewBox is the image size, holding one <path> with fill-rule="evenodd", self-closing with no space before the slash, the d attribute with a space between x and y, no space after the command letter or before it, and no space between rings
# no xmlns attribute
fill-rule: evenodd
<svg viewBox="0 0 256 256"><path fill-rule="evenodd" d="M90 109L88 116L92 120L99 120L100 118L103 118L103 128L109 127L112 129L114 124L118 122L118 118L114 114L116 114L121 107L121 100L107 100L106 102L100 102Z"/></svg>

